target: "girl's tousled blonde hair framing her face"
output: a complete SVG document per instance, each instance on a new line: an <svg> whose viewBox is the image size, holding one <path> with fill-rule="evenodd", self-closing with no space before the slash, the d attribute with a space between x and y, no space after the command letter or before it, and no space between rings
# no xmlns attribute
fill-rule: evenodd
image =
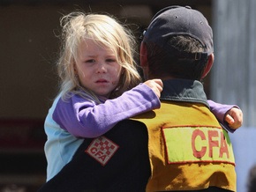
<svg viewBox="0 0 256 192"><path fill-rule="evenodd" d="M82 87L76 77L74 66L79 53L79 44L91 39L103 48L110 48L116 55L117 63L122 66L117 89L110 98L120 96L123 92L138 85L141 81L137 65L134 62L136 41L132 32L117 22L117 19L103 14L85 14L72 12L61 19L62 49L57 62L57 71L61 80L60 91L63 98L74 92L89 100L100 102L94 92Z"/></svg>

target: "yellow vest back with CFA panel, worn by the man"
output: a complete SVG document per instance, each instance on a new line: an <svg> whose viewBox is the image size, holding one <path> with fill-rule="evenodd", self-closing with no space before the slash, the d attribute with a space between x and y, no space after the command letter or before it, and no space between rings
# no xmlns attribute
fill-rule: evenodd
<svg viewBox="0 0 256 192"><path fill-rule="evenodd" d="M152 175L147 191L236 191L235 159L226 130L199 103L163 101L160 109L132 118L148 129Z"/></svg>

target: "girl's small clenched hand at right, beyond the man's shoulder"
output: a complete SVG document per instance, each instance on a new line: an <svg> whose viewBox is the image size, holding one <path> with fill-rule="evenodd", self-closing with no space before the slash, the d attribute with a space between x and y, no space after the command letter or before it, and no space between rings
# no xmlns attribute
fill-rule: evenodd
<svg viewBox="0 0 256 192"><path fill-rule="evenodd" d="M237 107L232 107L225 114L224 120L229 123L230 128L238 129L243 124L243 112Z"/></svg>

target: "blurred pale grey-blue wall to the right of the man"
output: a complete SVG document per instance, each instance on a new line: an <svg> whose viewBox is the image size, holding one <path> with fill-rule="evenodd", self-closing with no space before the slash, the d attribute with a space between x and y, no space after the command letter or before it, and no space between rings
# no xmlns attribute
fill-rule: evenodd
<svg viewBox="0 0 256 192"><path fill-rule="evenodd" d="M231 134L231 140L237 192L245 192L248 172L256 164L256 1L212 2L215 65L210 95L213 100L237 104L243 110L243 127Z"/></svg>

